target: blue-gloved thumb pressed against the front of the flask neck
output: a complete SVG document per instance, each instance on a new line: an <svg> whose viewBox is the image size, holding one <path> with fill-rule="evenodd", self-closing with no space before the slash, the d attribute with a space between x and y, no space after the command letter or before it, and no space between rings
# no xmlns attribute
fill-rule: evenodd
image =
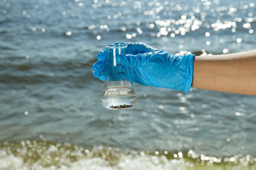
<svg viewBox="0 0 256 170"><path fill-rule="evenodd" d="M117 62L123 66L141 67L146 62L146 54L119 54L117 55Z"/></svg>

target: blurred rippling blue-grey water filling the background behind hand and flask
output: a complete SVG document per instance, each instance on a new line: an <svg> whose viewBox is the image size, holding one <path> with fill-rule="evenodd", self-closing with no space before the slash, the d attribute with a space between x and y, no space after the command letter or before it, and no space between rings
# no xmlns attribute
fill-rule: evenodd
<svg viewBox="0 0 256 170"><path fill-rule="evenodd" d="M0 0L0 170L255 170L256 97L135 84L108 110L109 42L174 54L255 49L254 0Z"/></svg>

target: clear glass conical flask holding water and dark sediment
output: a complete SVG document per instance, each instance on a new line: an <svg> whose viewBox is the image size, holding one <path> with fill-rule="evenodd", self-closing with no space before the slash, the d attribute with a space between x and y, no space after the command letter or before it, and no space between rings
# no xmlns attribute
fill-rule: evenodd
<svg viewBox="0 0 256 170"><path fill-rule="evenodd" d="M117 63L116 56L127 53L127 43L109 43L109 65L101 94L101 104L110 109L123 109L134 106L137 97L128 67Z"/></svg>

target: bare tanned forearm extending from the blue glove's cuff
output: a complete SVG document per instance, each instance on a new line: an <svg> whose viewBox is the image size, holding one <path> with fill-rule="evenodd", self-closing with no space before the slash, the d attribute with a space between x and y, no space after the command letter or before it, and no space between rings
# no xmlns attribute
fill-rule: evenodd
<svg viewBox="0 0 256 170"><path fill-rule="evenodd" d="M196 56L192 87L256 95L256 50Z"/></svg>

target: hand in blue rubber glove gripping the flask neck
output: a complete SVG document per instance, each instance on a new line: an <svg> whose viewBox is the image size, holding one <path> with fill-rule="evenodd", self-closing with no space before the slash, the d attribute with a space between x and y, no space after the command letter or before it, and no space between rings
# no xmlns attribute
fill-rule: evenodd
<svg viewBox="0 0 256 170"><path fill-rule="evenodd" d="M128 43L129 54L117 55L117 63L128 66L132 81L144 86L171 88L189 92L193 79L195 55L173 55L145 43ZM99 61L92 65L94 77L104 80L108 66L108 52L103 49Z"/></svg>

